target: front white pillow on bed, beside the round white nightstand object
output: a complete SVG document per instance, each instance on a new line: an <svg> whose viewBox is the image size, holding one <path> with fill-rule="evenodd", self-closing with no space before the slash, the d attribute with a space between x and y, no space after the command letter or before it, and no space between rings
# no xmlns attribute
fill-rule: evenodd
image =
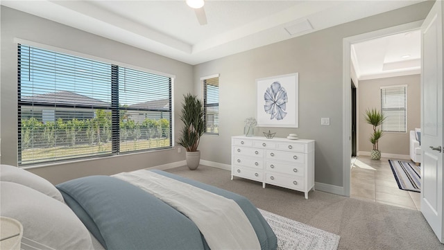
<svg viewBox="0 0 444 250"><path fill-rule="evenodd" d="M27 186L0 181L0 215L21 222L24 238L53 249L94 249L69 206Z"/></svg>

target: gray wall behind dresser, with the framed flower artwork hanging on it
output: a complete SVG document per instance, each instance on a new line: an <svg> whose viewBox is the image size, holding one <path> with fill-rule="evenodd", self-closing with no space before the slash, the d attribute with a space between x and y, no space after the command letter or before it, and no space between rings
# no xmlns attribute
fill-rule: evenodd
<svg viewBox="0 0 444 250"><path fill-rule="evenodd" d="M419 3L196 65L196 90L200 77L221 74L220 134L204 136L202 158L230 164L230 136L242 134L244 120L255 116L255 80L298 72L299 127L264 127L255 134L271 130L278 137L296 133L316 140L315 181L343 186L343 38L424 19L432 4ZM321 117L330 117L330 126L322 126Z"/></svg>

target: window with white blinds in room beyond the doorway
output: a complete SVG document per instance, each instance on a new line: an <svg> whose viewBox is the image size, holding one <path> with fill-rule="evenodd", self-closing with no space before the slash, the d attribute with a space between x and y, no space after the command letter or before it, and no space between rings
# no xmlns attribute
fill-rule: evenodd
<svg viewBox="0 0 444 250"><path fill-rule="evenodd" d="M407 132L407 85L381 87L384 132Z"/></svg>

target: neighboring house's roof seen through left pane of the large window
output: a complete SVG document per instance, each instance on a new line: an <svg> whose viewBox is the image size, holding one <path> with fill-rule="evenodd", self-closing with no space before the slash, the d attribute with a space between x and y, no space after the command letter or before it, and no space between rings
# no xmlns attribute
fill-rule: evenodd
<svg viewBox="0 0 444 250"><path fill-rule="evenodd" d="M22 100L56 105L87 105L102 107L110 105L108 102L103 102L102 100L83 96L71 91L56 91L34 96L22 96Z"/></svg>

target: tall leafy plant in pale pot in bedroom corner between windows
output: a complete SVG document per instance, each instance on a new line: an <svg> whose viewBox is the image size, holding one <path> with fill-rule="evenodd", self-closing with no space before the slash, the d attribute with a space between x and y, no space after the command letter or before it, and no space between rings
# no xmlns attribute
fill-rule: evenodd
<svg viewBox="0 0 444 250"><path fill-rule="evenodd" d="M203 119L204 111L202 102L190 93L184 95L180 120L183 127L180 132L178 144L187 150L187 166L190 170L196 170L200 163L200 151L197 150L200 136L205 130Z"/></svg>

